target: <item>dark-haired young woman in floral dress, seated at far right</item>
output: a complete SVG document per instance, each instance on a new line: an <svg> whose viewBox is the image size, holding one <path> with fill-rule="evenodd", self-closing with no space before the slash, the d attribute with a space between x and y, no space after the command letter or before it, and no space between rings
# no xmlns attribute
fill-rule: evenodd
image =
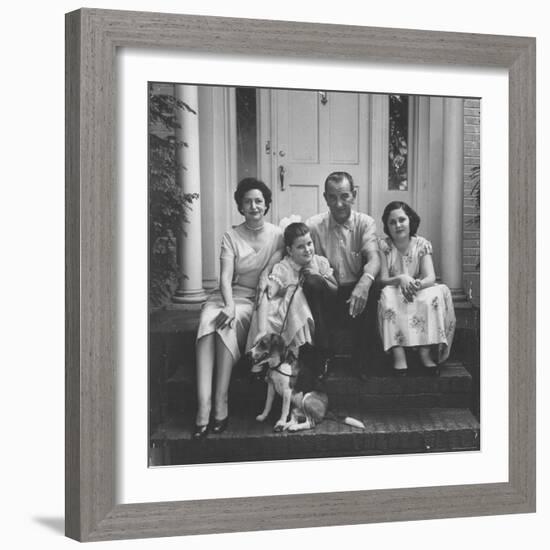
<svg viewBox="0 0 550 550"><path fill-rule="evenodd" d="M455 314L449 289L435 283L431 243L416 234L418 214L406 203L391 202L382 215L378 325L384 351L391 349L396 375L407 373L405 348L417 348L426 373L438 375L449 356Z"/></svg>

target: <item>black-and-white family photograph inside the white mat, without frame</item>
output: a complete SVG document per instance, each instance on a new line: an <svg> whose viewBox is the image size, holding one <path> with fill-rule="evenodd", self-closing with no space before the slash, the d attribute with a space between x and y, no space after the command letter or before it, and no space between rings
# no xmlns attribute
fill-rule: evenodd
<svg viewBox="0 0 550 550"><path fill-rule="evenodd" d="M149 466L478 451L481 99L147 97Z"/></svg>

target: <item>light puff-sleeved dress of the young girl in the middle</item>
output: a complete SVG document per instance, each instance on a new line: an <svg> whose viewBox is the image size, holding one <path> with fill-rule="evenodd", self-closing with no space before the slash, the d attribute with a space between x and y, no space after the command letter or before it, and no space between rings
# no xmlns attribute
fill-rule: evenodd
<svg viewBox="0 0 550 550"><path fill-rule="evenodd" d="M326 258L314 255L311 262L322 277L332 276L333 271ZM281 334L287 346L300 347L306 342L313 343L315 323L300 285L301 270L302 266L285 256L273 266L269 275L272 281L278 283L279 289L277 295L268 300L266 332ZM258 332L258 315L254 312L246 349L254 345Z"/></svg>

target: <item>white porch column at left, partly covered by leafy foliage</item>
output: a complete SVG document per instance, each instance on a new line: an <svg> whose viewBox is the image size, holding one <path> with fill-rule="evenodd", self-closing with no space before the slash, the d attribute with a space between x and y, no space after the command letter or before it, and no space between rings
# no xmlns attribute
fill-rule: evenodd
<svg viewBox="0 0 550 550"><path fill-rule="evenodd" d="M183 101L195 113L187 109L176 109L181 128L176 130L176 138L187 144L180 147L176 159L183 169L177 177L184 194L200 194L199 156L199 100L197 86L176 85L176 99ZM199 195L200 197L200 195ZM182 223L178 236L178 269L180 283L173 301L179 304L197 304L206 299L202 287L202 239L200 198L194 199L186 210L187 222Z"/></svg>

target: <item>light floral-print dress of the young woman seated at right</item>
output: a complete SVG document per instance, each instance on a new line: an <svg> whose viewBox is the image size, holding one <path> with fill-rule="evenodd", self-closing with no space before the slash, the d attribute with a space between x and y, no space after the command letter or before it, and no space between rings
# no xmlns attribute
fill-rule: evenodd
<svg viewBox="0 0 550 550"><path fill-rule="evenodd" d="M390 277L406 273L419 278L421 259L432 253L431 243L420 236L411 237L406 254L397 250L390 237L380 239L379 244ZM384 351L395 346L431 346L433 359L445 361L456 327L451 292L446 285L435 284L407 302L399 287L386 286L378 302L378 327Z"/></svg>

